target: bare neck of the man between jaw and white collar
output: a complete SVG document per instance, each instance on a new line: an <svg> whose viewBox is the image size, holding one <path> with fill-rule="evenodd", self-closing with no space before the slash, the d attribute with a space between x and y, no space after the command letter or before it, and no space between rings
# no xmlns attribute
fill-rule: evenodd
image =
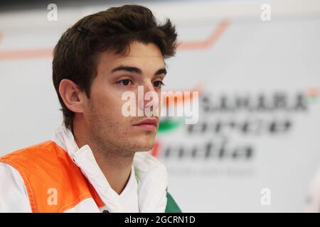
<svg viewBox="0 0 320 227"><path fill-rule="evenodd" d="M102 170L102 173L107 178L110 187L117 194L121 194L129 181L134 153L124 155L124 153L117 151L105 150L90 139L90 135L85 135L84 131L78 126L73 127L73 135L78 148L81 148L83 145L90 146L97 165L99 165L100 170Z"/></svg>

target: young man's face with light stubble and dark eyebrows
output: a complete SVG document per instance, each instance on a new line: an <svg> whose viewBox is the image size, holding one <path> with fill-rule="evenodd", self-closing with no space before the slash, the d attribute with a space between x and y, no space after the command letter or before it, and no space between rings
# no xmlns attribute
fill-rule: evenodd
<svg viewBox="0 0 320 227"><path fill-rule="evenodd" d="M103 52L97 61L97 76L92 82L90 99L85 101L83 113L91 139L102 148L117 152L151 150L159 127L159 116L150 117L158 121L154 130L134 126L147 117L124 116L122 105L127 101L122 100L122 94L134 92L136 109L144 109L150 100L138 101L138 86L144 87L144 94L151 91L160 97L164 71L161 51L153 43L134 42L125 56ZM159 108L160 113L159 105L152 107Z"/></svg>

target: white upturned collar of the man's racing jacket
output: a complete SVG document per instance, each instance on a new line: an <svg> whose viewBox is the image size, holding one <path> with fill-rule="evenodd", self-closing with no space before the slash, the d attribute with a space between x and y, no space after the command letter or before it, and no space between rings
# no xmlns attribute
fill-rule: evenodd
<svg viewBox="0 0 320 227"><path fill-rule="evenodd" d="M110 187L107 178L97 165L89 145L78 148L73 133L64 124L55 130L53 141L68 152L68 155L95 188L109 211L122 212L124 209L122 204L119 203L119 195ZM168 185L166 167L149 152L135 153L133 166L138 181L139 211L164 212Z"/></svg>

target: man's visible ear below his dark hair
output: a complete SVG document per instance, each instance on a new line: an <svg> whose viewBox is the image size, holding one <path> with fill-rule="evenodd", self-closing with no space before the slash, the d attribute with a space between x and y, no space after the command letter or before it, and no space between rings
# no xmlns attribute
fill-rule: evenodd
<svg viewBox="0 0 320 227"><path fill-rule="evenodd" d="M75 113L82 113L83 106L80 99L80 89L75 82L70 79L63 79L59 84L59 94L63 99L65 106Z"/></svg>

